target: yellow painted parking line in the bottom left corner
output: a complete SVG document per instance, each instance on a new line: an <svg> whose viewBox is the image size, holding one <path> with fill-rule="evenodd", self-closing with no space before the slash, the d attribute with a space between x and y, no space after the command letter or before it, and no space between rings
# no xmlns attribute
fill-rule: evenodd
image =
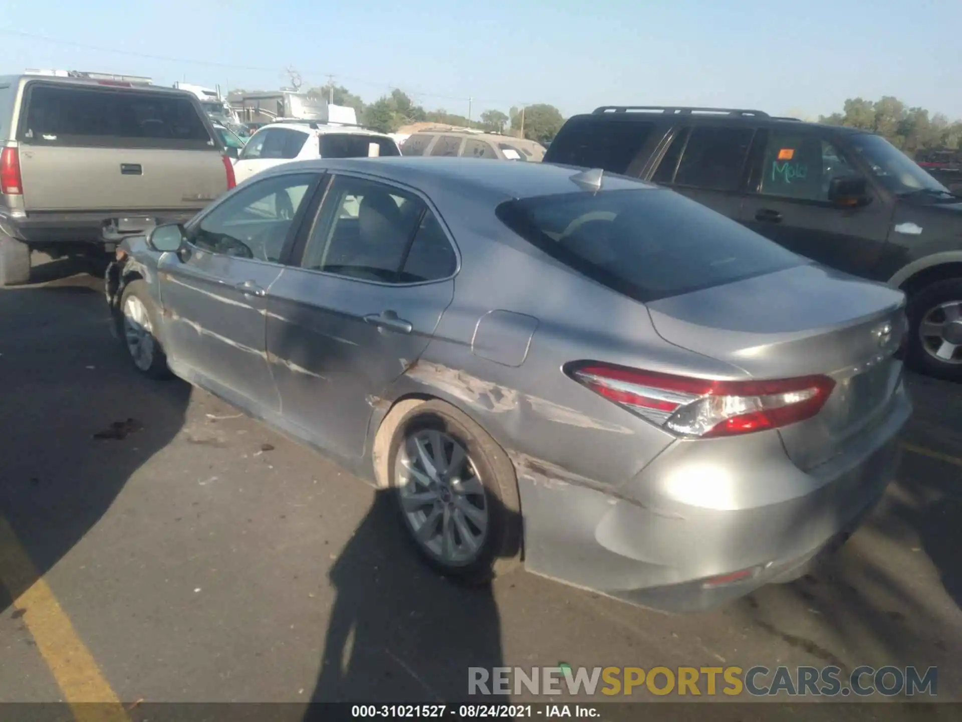
<svg viewBox="0 0 962 722"><path fill-rule="evenodd" d="M13 600L37 648L78 722L129 722L125 709L97 663L42 580L6 519L0 517L0 582ZM99 704L89 704L99 703Z"/></svg>

